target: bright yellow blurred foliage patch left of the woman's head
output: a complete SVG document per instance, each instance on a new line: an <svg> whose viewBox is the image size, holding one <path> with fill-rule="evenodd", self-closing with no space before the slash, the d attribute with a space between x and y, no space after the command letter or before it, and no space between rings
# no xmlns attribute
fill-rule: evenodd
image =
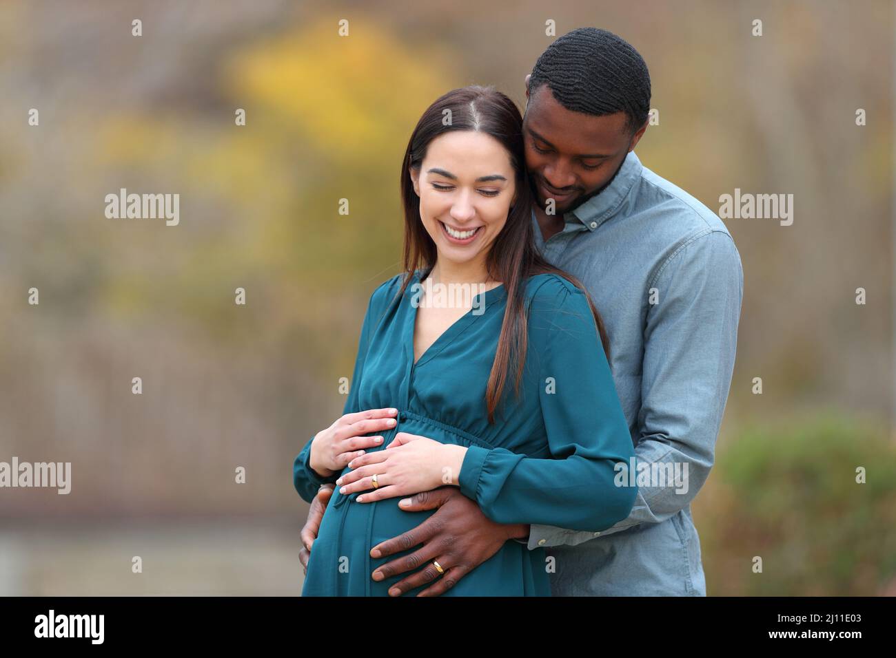
<svg viewBox="0 0 896 658"><path fill-rule="evenodd" d="M270 113L334 159L358 162L403 147L426 107L452 87L450 58L415 52L374 21L355 19L340 37L336 18L316 21L237 52L226 67L234 98ZM388 79L384 77L388 72ZM247 122L252 108L247 107Z"/></svg>

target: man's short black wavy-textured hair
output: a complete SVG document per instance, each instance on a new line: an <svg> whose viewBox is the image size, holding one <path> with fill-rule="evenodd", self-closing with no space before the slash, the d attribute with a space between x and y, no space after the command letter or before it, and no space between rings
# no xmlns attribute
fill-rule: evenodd
<svg viewBox="0 0 896 658"><path fill-rule="evenodd" d="M650 73L641 54L624 38L597 28L564 34L538 57L530 97L547 84L563 107L586 115L625 112L637 132L650 113Z"/></svg>

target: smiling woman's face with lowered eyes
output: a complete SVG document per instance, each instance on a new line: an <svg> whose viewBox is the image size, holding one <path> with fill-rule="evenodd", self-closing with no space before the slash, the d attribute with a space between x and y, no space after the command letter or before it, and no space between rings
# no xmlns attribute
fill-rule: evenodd
<svg viewBox="0 0 896 658"><path fill-rule="evenodd" d="M484 132L445 132L429 142L410 176L439 261L484 265L516 197L510 154L501 143Z"/></svg>

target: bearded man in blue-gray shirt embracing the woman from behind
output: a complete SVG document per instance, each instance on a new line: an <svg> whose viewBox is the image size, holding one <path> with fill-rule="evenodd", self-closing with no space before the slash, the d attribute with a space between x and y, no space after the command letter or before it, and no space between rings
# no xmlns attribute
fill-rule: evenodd
<svg viewBox="0 0 896 658"><path fill-rule="evenodd" d="M710 472L728 398L740 256L710 209L635 156L649 123L650 74L625 40L593 28L558 38L526 77L526 99L536 241L603 315L638 465L620 477L637 483L638 497L616 526L581 532L495 524L457 488L426 491L403 509L435 513L371 556L419 548L371 576L407 572L393 595L430 581L422 594L442 594L514 539L555 557L554 595L705 595L690 503ZM302 530L305 566L331 492L322 487ZM433 566L446 551L461 565L452 580Z"/></svg>

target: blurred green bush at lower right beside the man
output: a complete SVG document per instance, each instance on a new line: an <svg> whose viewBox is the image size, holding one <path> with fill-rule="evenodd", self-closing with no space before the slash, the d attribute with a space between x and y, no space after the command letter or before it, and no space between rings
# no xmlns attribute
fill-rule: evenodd
<svg viewBox="0 0 896 658"><path fill-rule="evenodd" d="M719 441L694 517L708 594L893 594L896 443L836 414L754 424Z"/></svg>

